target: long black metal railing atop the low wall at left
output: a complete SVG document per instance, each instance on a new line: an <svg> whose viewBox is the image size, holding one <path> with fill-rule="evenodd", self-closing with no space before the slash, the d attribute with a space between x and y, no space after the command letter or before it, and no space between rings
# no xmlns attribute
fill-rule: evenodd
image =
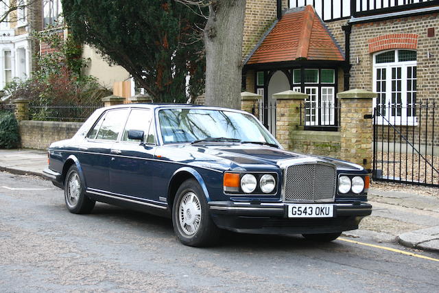
<svg viewBox="0 0 439 293"><path fill-rule="evenodd" d="M89 105L44 105L29 104L29 119L40 121L83 122L103 104Z"/></svg>

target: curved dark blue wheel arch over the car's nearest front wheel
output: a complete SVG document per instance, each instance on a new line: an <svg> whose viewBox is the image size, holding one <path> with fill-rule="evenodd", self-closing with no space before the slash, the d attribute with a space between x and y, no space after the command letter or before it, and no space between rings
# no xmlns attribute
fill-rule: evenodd
<svg viewBox="0 0 439 293"><path fill-rule="evenodd" d="M197 170L191 167L181 167L180 169L176 170L174 174L172 174L171 180L169 181L169 185L167 188L167 204L169 209L172 209L178 187L180 187L180 185L185 182L185 180L191 178L195 179L198 182L204 192L204 196L206 196L206 200L209 202L209 191L207 190L206 183L204 183L204 179L202 178L200 173L198 173Z"/></svg>

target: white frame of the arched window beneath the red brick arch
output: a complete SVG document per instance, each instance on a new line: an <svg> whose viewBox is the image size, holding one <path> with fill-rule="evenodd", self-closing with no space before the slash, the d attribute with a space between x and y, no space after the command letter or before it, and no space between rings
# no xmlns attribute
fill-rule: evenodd
<svg viewBox="0 0 439 293"><path fill-rule="evenodd" d="M407 49L403 49L407 50ZM388 51L394 51L395 61L377 63L377 55L383 54ZM380 115L377 117L377 124L379 125L396 125L396 126L417 126L418 117L407 117L407 67L416 67L416 60L412 61L401 61L398 60L399 49L391 49L385 51L379 51L373 54L373 66L372 66L372 90L377 93L377 69L385 69L385 106L392 104L392 68L401 68L401 116L393 116L390 109L387 109L385 115ZM414 50L407 50L414 51ZM411 91L416 92L416 91ZM377 106L377 98L373 99L373 107Z"/></svg>

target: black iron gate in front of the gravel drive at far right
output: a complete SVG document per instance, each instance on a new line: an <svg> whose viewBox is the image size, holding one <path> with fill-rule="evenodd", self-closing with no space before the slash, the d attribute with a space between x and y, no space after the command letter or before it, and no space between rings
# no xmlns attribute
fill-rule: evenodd
<svg viewBox="0 0 439 293"><path fill-rule="evenodd" d="M373 119L374 180L439 187L436 104L379 104Z"/></svg>

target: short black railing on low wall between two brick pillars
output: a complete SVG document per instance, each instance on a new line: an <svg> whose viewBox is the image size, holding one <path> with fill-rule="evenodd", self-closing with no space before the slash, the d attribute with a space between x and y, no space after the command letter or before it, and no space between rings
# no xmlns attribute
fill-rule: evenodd
<svg viewBox="0 0 439 293"><path fill-rule="evenodd" d="M300 126L309 130L337 131L340 127L340 103L300 103Z"/></svg>

